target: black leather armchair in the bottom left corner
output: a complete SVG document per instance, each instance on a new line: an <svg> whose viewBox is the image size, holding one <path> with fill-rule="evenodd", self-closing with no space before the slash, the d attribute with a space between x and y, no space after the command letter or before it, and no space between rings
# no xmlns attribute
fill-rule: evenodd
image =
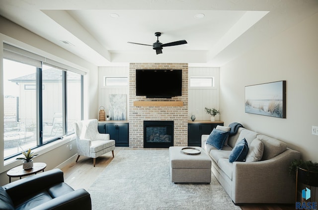
<svg viewBox="0 0 318 210"><path fill-rule="evenodd" d="M0 187L0 210L91 210L90 195L64 183L53 169Z"/></svg>

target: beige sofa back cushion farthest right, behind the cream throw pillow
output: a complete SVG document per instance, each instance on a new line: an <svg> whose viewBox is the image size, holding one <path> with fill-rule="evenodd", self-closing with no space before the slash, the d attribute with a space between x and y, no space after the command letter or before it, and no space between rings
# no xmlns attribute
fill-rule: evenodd
<svg viewBox="0 0 318 210"><path fill-rule="evenodd" d="M257 139L264 144L264 152L262 160L271 159L287 149L287 144L283 141L267 137L265 135L257 135Z"/></svg>

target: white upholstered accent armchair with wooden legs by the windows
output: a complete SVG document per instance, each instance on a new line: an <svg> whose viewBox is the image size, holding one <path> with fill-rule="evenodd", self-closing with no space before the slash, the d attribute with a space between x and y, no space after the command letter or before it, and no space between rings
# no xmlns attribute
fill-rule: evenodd
<svg viewBox="0 0 318 210"><path fill-rule="evenodd" d="M74 123L78 158L83 155L92 157L95 167L96 157L112 151L114 157L115 140L110 140L109 134L98 133L97 119L82 120Z"/></svg>

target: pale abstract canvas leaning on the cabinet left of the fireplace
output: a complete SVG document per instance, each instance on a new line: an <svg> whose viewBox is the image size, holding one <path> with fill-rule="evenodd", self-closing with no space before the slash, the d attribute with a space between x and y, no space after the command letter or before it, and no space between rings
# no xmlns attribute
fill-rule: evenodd
<svg viewBox="0 0 318 210"><path fill-rule="evenodd" d="M126 120L126 94L109 94L109 117Z"/></svg>

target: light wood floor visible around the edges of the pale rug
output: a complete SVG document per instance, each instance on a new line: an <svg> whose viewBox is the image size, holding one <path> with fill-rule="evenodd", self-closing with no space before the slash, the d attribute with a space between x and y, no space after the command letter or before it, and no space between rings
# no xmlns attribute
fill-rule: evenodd
<svg viewBox="0 0 318 210"><path fill-rule="evenodd" d="M114 155L122 149L132 149L129 147L116 147ZM83 188L88 190L99 174L112 161L113 156L108 152L96 158L96 165L93 167L93 159L80 156L78 162L71 163L62 168L64 172L64 181L72 188ZM242 210L295 210L295 205L244 205L240 206Z"/></svg>

